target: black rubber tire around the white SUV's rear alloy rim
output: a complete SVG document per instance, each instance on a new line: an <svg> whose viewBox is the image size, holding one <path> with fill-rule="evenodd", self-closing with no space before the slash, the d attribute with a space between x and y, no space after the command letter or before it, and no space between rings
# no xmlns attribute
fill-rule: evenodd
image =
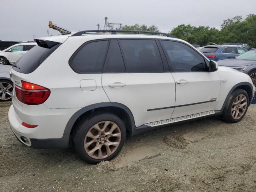
<svg viewBox="0 0 256 192"><path fill-rule="evenodd" d="M86 143L90 143L90 141L87 142L86 139L88 138L89 131L90 131L90 133L92 133L91 132L92 128L100 122L111 122L112 124L116 124L116 126L118 126L118 130L120 132L120 138L118 138L119 139L118 147L116 147L113 150L113 153L111 155L107 156L106 158L99 159L99 158L93 158L92 155L88 155L88 152L86 152ZM111 127L111 125L110 125L110 127ZM96 134L98 135L98 133L96 133ZM96 134L94 134L94 135L96 135ZM102 139L102 141L101 141L101 138L102 137L97 138L96 142L92 141L93 142L92 145L94 145L94 143L95 143L95 146L90 146L91 147L90 150L93 150L94 147L96 147L97 142L102 142L101 146L104 146L103 142L106 142L106 144L108 144L108 141L105 141L104 139ZM109 138L109 140L110 140L110 138ZM125 128L124 122L118 116L111 114L111 113L96 114L93 116L89 116L84 120L81 120L77 124L76 131L73 135L73 144L74 144L74 149L76 151L76 154L78 154L78 156L82 160L84 160L88 163L91 163L91 164L97 164L101 161L111 160L112 158L117 156L117 154L120 152L120 150L124 146L125 140L126 140L126 128ZM112 140L111 140L111 142L112 142ZM103 147L101 147L100 150L102 150L102 148ZM95 152L95 153L97 153L97 152ZM107 154L105 154L105 155L107 155Z"/></svg>

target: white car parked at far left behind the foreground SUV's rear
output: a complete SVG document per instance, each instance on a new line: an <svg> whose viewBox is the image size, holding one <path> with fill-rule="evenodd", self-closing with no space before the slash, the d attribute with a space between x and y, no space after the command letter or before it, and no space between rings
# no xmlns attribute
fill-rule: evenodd
<svg viewBox="0 0 256 192"><path fill-rule="evenodd" d="M19 43L0 51L0 65L8 65L10 62L15 63L34 46L36 46L36 42Z"/></svg>

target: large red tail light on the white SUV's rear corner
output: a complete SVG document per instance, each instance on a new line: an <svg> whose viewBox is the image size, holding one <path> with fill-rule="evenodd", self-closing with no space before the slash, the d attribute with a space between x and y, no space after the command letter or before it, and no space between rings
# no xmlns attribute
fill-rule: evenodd
<svg viewBox="0 0 256 192"><path fill-rule="evenodd" d="M39 105L45 102L50 96L48 88L21 81L22 86L15 85L15 94L17 99L27 105Z"/></svg>

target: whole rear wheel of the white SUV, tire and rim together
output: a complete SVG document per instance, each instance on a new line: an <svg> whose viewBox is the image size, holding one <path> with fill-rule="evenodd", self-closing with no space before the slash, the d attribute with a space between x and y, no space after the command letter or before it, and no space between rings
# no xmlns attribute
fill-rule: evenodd
<svg viewBox="0 0 256 192"><path fill-rule="evenodd" d="M98 114L82 120L73 137L76 153L91 164L114 158L125 140L124 123L114 114Z"/></svg>

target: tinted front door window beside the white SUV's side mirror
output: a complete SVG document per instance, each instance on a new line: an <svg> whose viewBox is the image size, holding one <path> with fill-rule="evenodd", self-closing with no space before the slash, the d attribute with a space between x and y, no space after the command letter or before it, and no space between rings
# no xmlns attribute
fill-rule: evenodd
<svg viewBox="0 0 256 192"><path fill-rule="evenodd" d="M172 71L207 71L204 58L189 46L174 42L162 41L172 65Z"/></svg>

